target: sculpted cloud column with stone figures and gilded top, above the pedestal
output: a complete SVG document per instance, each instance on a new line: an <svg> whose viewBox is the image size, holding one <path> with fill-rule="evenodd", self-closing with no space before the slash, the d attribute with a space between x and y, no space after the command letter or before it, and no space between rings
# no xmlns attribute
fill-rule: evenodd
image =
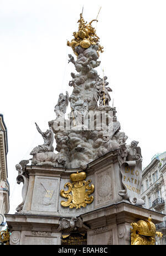
<svg viewBox="0 0 166 256"><path fill-rule="evenodd" d="M37 126L44 144L35 147L30 153L34 165L49 164L85 170L91 161L113 150L119 151L122 162L136 159L139 155L137 146L133 143L126 145L127 136L117 121L116 108L109 106L112 89L108 87L107 76L101 78L95 70L100 66L98 58L102 47L98 44L99 38L91 24L86 23L81 14L79 31L73 33L71 42L68 41L77 56L74 58L69 54L68 63L71 62L76 70L75 73L71 72L72 79L69 81L72 92L70 97L67 91L66 95L60 93L54 109L56 119L49 121L49 130L42 132ZM69 102L71 111L65 118ZM100 125L97 115L101 117L103 110L106 110L105 116L109 120L104 122L103 118ZM108 113L110 110L113 116ZM94 126L89 125L90 122ZM54 136L58 154L53 152Z"/></svg>

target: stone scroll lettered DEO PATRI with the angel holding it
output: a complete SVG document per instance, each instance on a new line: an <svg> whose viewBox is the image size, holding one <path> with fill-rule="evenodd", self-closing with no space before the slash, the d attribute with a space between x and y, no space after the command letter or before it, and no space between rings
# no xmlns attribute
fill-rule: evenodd
<svg viewBox="0 0 166 256"><path fill-rule="evenodd" d="M141 149L137 147L138 141L132 141L131 145L120 147L120 171L122 175L122 185L125 189L118 192L123 199L131 204L143 205L141 199L142 185L142 156ZM139 152L139 154L138 154Z"/></svg>

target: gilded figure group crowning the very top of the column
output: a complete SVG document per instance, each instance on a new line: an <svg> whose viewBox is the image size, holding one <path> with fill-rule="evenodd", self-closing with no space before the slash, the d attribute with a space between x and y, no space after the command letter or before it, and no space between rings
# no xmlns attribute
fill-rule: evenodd
<svg viewBox="0 0 166 256"><path fill-rule="evenodd" d="M99 37L96 35L96 29L91 26L92 22L97 21L97 19L92 19L91 22L86 24L82 17L82 13L80 14L79 19L79 31L73 32L74 39L71 42L67 41L67 45L72 48L75 55L78 56L78 53L75 51L76 46L81 46L82 48L89 48L90 45L96 45L99 41ZM98 45L98 52L103 52L103 47Z"/></svg>

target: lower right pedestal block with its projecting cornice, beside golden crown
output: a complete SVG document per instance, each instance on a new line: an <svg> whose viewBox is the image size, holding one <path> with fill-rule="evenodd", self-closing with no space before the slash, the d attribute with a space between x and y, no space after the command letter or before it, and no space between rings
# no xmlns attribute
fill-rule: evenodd
<svg viewBox="0 0 166 256"><path fill-rule="evenodd" d="M162 221L163 214L126 202L82 214L84 223L91 227L87 231L87 244L129 245L131 223L146 220L151 215L153 223Z"/></svg>

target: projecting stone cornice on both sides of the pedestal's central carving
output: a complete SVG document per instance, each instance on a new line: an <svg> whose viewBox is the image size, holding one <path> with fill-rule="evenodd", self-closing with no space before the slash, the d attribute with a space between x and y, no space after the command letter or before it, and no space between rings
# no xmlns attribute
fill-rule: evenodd
<svg viewBox="0 0 166 256"><path fill-rule="evenodd" d="M100 209L80 214L82 221L95 232L102 232L106 225L121 223L131 223L133 220L147 219L152 216L154 224L163 221L165 214L152 211L141 206L132 205L121 201L120 203L105 206ZM44 228L47 232L54 232L59 227L59 221L63 216L55 215L38 215L38 214L5 214L9 229L12 230L35 230ZM99 230L100 229L100 230Z"/></svg>

